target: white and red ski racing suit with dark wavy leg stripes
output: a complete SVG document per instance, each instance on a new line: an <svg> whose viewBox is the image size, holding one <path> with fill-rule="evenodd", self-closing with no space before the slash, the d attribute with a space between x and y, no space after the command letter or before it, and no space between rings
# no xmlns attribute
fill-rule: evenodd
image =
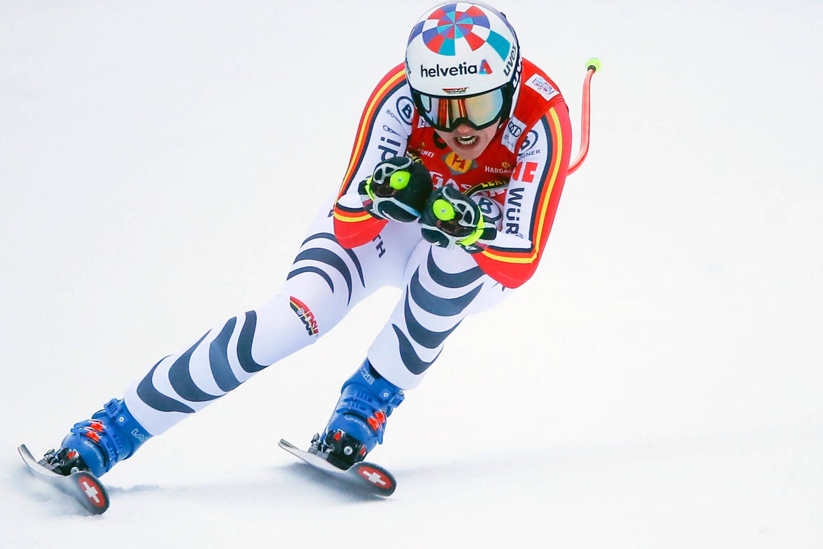
<svg viewBox="0 0 823 549"><path fill-rule="evenodd" d="M569 165L571 129L557 86L526 59L521 81L512 117L477 160L467 161L417 114L404 66L388 72L365 106L342 186L314 220L280 291L135 380L125 401L137 421L159 435L317 341L384 286L402 289L402 296L368 359L400 388L420 384L467 314L498 303L532 277L542 258ZM357 184L379 161L403 154L423 162L435 187L454 185L496 218L491 245L476 254L438 248L421 238L417 223L365 212Z"/></svg>

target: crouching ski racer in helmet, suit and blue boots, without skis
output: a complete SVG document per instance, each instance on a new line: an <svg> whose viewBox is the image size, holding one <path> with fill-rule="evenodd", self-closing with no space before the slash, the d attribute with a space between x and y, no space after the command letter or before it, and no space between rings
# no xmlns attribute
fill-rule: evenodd
<svg viewBox="0 0 823 549"><path fill-rule="evenodd" d="M313 441L339 468L361 461L463 318L532 277L570 147L560 91L521 58L502 13L481 2L431 9L412 28L405 63L370 95L342 186L277 295L160 359L42 463L99 477L397 286L402 299Z"/></svg>

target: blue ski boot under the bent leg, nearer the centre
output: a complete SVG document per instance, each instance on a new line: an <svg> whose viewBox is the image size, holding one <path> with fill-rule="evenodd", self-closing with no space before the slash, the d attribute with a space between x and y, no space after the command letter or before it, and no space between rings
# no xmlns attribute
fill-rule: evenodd
<svg viewBox="0 0 823 549"><path fill-rule="evenodd" d="M400 406L402 389L382 378L366 359L343 384L323 436L315 435L312 448L336 467L347 469L383 444L386 418Z"/></svg>

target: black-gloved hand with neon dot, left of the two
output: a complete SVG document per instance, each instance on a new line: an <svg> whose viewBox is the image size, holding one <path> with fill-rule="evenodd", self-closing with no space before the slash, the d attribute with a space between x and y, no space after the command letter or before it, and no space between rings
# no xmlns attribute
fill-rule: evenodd
<svg viewBox="0 0 823 549"><path fill-rule="evenodd" d="M380 162L358 192L366 211L380 219L411 223L431 194L431 174L420 162L395 156Z"/></svg>

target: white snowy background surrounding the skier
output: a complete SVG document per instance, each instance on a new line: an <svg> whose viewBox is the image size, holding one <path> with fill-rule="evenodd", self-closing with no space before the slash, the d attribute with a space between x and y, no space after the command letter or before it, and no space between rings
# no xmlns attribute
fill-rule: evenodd
<svg viewBox="0 0 823 549"><path fill-rule="evenodd" d="M496 5L575 135L602 59L591 151L537 275L392 416L395 495L277 448L323 428L387 290L88 517L16 445L277 290L430 2L0 0L0 547L823 547L823 4Z"/></svg>

